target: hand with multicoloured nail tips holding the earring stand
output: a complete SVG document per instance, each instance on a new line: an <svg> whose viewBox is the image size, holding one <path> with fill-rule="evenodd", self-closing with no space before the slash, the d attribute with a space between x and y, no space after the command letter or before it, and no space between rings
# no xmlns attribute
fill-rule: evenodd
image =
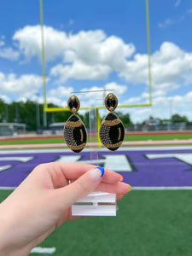
<svg viewBox="0 0 192 256"><path fill-rule="evenodd" d="M0 255L31 252L55 228L73 217L71 206L92 191L114 193L117 200L130 190L121 176L80 163L37 166L0 205ZM71 181L71 183L69 183Z"/></svg>

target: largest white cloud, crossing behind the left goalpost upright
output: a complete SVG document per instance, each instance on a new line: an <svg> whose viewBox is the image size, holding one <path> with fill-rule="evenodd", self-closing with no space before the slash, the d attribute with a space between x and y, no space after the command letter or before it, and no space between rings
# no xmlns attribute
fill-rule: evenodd
<svg viewBox="0 0 192 256"><path fill-rule="evenodd" d="M15 32L13 39L27 61L41 57L40 26L25 26ZM51 26L44 26L44 44L46 61L60 57L65 63L51 70L53 75L61 77L61 82L71 78L106 78L112 70L119 72L125 67L126 59L135 51L133 44L125 44L116 36L107 37L102 30L67 34ZM67 62L72 65L66 65ZM66 75L61 75L63 71Z"/></svg>

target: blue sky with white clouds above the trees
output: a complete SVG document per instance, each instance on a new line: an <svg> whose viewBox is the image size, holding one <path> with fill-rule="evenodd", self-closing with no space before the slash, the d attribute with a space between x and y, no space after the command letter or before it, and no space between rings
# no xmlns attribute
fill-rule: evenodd
<svg viewBox="0 0 192 256"><path fill-rule="evenodd" d="M135 122L170 111L192 119L192 2L149 3L153 106L128 108ZM43 102L39 1L2 1L0 97ZM72 91L114 90L119 104L148 102L145 1L44 1L48 102ZM82 94L85 106L89 96ZM96 97L102 95L97 93Z"/></svg>

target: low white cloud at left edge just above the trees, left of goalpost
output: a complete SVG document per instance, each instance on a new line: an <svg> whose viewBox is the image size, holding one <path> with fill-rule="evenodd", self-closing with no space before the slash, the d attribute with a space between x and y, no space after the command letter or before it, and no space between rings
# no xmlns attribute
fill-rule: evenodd
<svg viewBox="0 0 192 256"><path fill-rule="evenodd" d="M42 77L35 74L24 74L17 77L15 73L0 73L1 92L29 98L42 86Z"/></svg>

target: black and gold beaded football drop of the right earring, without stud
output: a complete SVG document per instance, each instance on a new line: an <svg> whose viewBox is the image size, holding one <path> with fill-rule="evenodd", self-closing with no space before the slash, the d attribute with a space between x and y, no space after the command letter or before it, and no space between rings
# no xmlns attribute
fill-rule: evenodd
<svg viewBox="0 0 192 256"><path fill-rule="evenodd" d="M109 150L115 151L123 143L125 136L124 125L115 113L108 113L102 120L99 135L102 144Z"/></svg>

